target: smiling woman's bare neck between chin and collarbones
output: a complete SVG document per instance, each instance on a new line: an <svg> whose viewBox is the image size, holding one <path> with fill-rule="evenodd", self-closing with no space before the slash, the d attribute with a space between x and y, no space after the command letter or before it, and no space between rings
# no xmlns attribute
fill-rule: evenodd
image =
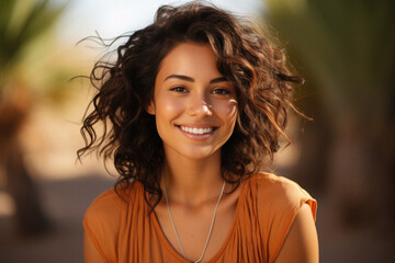
<svg viewBox="0 0 395 263"><path fill-rule="evenodd" d="M224 183L221 175L221 152L203 160L167 158L162 176L169 199L199 206L217 198Z"/></svg>

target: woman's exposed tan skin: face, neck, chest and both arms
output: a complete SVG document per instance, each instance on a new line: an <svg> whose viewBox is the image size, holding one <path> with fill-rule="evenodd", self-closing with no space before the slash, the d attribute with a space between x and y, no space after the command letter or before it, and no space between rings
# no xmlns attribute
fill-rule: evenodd
<svg viewBox="0 0 395 263"><path fill-rule="evenodd" d="M198 260L223 185L221 147L230 137L237 117L236 90L218 72L210 45L179 44L165 57L147 112L156 116L163 140L162 176L182 247L189 260ZM202 262L210 261L229 235L240 193L237 188L226 194L230 190L227 184ZM182 254L163 198L155 215L168 241ZM84 260L104 262L87 235ZM318 262L317 233L307 205L296 215L276 262Z"/></svg>

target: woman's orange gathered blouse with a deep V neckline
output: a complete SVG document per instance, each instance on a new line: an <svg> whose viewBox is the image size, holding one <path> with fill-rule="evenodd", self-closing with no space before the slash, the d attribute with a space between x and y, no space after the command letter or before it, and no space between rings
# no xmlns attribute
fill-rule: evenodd
<svg viewBox="0 0 395 263"><path fill-rule="evenodd" d="M241 185L235 219L219 251L208 262L274 262L303 204L315 219L317 203L296 183L259 173ZM157 217L148 214L140 183L129 186L128 201L114 190L88 208L83 227L105 262L182 262L165 237Z"/></svg>

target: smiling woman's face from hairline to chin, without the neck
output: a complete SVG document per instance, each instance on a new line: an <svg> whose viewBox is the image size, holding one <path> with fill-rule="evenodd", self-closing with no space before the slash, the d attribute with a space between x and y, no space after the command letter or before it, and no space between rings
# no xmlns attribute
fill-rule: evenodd
<svg viewBox="0 0 395 263"><path fill-rule="evenodd" d="M147 112L156 116L167 157L221 155L236 123L236 89L208 44L179 44L161 61Z"/></svg>

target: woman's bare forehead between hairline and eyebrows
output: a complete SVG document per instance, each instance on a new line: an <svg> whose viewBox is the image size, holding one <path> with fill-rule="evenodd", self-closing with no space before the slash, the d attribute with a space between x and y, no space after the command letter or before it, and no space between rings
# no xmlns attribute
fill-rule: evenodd
<svg viewBox="0 0 395 263"><path fill-rule="evenodd" d="M192 78L217 78L216 56L210 44L181 43L162 59L157 80L168 75L184 75Z"/></svg>

